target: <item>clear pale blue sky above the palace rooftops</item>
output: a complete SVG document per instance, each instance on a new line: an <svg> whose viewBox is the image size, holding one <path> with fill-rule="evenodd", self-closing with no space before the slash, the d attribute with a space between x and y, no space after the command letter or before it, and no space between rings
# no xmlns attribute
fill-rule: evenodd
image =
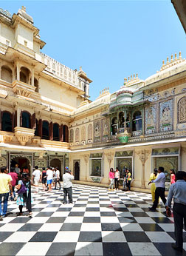
<svg viewBox="0 0 186 256"><path fill-rule="evenodd" d="M109 87L115 92L124 78L148 78L162 60L182 52L186 38L171 0L162 1L0 1L17 13L24 5L47 44L41 50L92 79L90 99Z"/></svg>

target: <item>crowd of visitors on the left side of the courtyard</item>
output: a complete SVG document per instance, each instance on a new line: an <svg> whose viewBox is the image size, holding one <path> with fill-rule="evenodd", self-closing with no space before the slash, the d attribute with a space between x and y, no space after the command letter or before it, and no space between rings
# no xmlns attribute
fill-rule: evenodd
<svg viewBox="0 0 186 256"><path fill-rule="evenodd" d="M72 180L74 176L69 168L66 166L65 174L63 174L63 203L67 203L67 196L69 198L69 203L72 203ZM34 183L33 183L34 181ZM23 207L26 206L28 211L28 216L32 217L32 191L31 185L35 186L36 193L38 192L38 183L42 181L44 191L47 189L46 183L48 185L48 191L52 190L52 183L56 189L57 183L59 184L59 189L61 189L60 183L60 172L58 167L52 168L48 167L47 171L43 168L42 172L35 166L35 171L32 173L32 178L30 178L29 173L22 172L21 175L15 172L15 168L11 167L10 172L6 166L1 167L0 172L0 220L7 215L7 203L10 195L10 200L15 200L19 212L18 216L23 215ZM15 197L15 189L17 197ZM3 209L1 207L2 201L4 203Z"/></svg>

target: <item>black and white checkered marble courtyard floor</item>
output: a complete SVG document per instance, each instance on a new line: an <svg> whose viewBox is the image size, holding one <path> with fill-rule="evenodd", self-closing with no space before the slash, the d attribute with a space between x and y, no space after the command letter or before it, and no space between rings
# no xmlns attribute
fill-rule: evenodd
<svg viewBox="0 0 186 256"><path fill-rule="evenodd" d="M151 195L73 186L74 204L61 204L63 192L32 194L33 217L16 217L9 201L0 222L0 255L186 255L171 248L173 218L148 212Z"/></svg>

